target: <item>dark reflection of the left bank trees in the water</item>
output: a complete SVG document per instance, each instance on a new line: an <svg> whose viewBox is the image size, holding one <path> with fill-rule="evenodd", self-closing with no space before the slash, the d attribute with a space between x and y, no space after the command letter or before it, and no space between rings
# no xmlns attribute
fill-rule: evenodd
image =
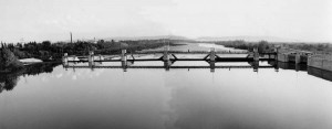
<svg viewBox="0 0 332 129"><path fill-rule="evenodd" d="M13 73L0 73L0 93L3 90L12 90L20 78L20 76L25 75L39 75L41 73L52 73L59 63L39 63L25 66L24 69L13 72Z"/></svg>

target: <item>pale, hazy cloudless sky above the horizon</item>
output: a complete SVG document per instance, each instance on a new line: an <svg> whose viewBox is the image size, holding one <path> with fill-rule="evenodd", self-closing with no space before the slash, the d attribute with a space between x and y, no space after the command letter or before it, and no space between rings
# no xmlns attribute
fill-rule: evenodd
<svg viewBox="0 0 332 129"><path fill-rule="evenodd" d="M332 0L0 0L0 41L277 36L332 42Z"/></svg>

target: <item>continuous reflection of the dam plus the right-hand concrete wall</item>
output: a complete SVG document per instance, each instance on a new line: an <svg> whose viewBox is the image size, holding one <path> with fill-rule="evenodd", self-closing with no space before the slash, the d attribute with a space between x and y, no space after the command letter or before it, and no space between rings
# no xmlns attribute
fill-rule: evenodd
<svg viewBox="0 0 332 129"><path fill-rule="evenodd" d="M138 62L138 61L136 61ZM174 66L173 64L175 62L162 62L162 65L136 65L136 62L121 62L121 64L112 64L107 65L106 63L102 62L94 62L95 64L89 64L89 63L79 63L79 62L69 62L66 64L63 64L64 68L122 68L124 72L126 72L129 68L164 68L165 71L169 69L180 69L180 68L209 68L210 72L215 72L215 69L218 68L252 68L253 72L258 72L259 68L274 68L276 72L281 69L291 69L291 71L297 71L297 72L308 72L309 75L313 75L326 80L332 82L332 72L324 71L324 69L319 69L314 67L307 66L305 64L293 64L293 63L283 63L283 62L277 62L277 61L268 61L269 65L260 65L260 62L248 62L248 65L220 65L218 62L205 62L206 65L190 65L190 62L188 65L176 65ZM180 62L180 61L178 61ZM191 62L199 62L199 61L191 61ZM200 63L204 63L200 61ZM138 63L139 64L139 63Z"/></svg>

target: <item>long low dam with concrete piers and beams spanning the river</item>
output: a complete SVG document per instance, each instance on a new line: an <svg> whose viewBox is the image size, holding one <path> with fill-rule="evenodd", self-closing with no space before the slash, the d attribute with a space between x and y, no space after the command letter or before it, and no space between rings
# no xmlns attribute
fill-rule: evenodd
<svg viewBox="0 0 332 129"><path fill-rule="evenodd" d="M155 54L158 55L155 55ZM157 57L148 57L148 58L142 58L139 54L151 54ZM203 54L203 57L178 57L177 54ZM222 55L225 54L225 56ZM239 54L242 56L229 56L229 54ZM245 56L243 56L245 54ZM135 56L138 55L138 56ZM267 55L261 57L260 55ZM253 49L253 52L230 52L230 51L216 51L214 47L210 49L210 51L169 51L169 49L165 47L164 51L151 51L151 52L137 52L137 53L127 53L126 50L122 50L122 53L118 55L120 57L114 58L105 58L105 55L94 55L94 52L89 52L87 56L69 56L65 54L63 56L63 64L65 67L69 67L69 63L81 63L81 62L87 62L89 66L83 67L103 67L103 66L96 66L95 63L102 63L102 62L121 62L124 69L126 68L139 68L139 67L146 67L146 66L131 66L134 64L134 62L148 62L148 61L163 61L164 66L151 66L152 68L160 68L164 67L165 69L169 68L190 68L188 66L172 66L175 62L179 61L204 61L209 64L209 66L191 66L191 68L210 68L211 72L215 71L215 68L222 68L224 66L216 66L217 62L250 62L249 67L253 67L253 71L258 71L259 67L273 67L273 66L259 66L259 61L274 61L276 60L276 53L259 53L258 49ZM82 66L80 66L82 67ZM107 66L107 67L114 67L114 66ZM147 68L147 67L146 67Z"/></svg>

